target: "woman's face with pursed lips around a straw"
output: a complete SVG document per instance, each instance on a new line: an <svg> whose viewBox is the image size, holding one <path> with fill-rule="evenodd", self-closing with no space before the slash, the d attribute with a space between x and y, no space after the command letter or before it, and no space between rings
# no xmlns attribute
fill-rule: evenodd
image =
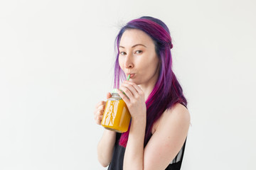
<svg viewBox="0 0 256 170"><path fill-rule="evenodd" d="M129 81L138 85L155 84L159 76L159 58L153 40L142 30L125 30L119 44L119 65Z"/></svg>

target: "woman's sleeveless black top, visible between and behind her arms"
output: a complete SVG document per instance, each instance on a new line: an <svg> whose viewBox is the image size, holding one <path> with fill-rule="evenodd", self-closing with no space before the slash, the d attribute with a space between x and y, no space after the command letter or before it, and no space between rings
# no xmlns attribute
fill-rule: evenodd
<svg viewBox="0 0 256 170"><path fill-rule="evenodd" d="M108 170L122 170L123 169L123 162L124 162L124 152L125 147L119 145L119 139L121 137L121 133L117 132L116 141L114 143L114 152L112 156L112 161L110 162L110 166ZM166 167L166 170L179 170L181 169L181 163L183 159L183 154L186 146L186 140L181 147L181 150L178 152L174 160L172 160L169 166Z"/></svg>

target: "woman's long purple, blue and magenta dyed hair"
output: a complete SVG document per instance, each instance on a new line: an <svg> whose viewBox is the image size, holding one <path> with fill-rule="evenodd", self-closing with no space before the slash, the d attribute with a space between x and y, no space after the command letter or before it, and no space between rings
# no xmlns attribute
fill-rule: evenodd
<svg viewBox="0 0 256 170"><path fill-rule="evenodd" d="M119 88L119 81L126 79L124 72L119 66L119 42L122 34L127 29L138 29L144 31L154 42L156 55L159 57L160 69L159 77L154 89L146 100L146 132L144 138L144 147L151 137L152 126L160 116L174 106L175 103L183 103L187 106L186 98L183 95L181 85L178 83L174 72L172 71L171 59L171 35L165 23L157 18L143 16L141 18L129 21L122 27L115 40L117 48L117 57L114 64L114 88ZM129 137L129 129L124 132L119 140L119 145L126 147Z"/></svg>

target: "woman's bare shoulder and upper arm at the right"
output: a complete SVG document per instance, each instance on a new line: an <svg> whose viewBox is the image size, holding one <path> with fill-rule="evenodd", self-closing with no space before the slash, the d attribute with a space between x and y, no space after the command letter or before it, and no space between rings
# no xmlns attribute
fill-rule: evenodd
<svg viewBox="0 0 256 170"><path fill-rule="evenodd" d="M164 169L181 150L190 125L188 109L176 103L156 121L154 134L144 149L145 169Z"/></svg>

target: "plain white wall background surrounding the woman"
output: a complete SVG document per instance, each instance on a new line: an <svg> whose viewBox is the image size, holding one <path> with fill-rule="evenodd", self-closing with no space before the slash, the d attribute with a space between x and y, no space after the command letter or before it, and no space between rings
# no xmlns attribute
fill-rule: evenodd
<svg viewBox="0 0 256 170"><path fill-rule="evenodd" d="M256 2L0 1L0 169L104 169L93 111L114 38L141 16L171 31L191 113L182 169L256 169Z"/></svg>

